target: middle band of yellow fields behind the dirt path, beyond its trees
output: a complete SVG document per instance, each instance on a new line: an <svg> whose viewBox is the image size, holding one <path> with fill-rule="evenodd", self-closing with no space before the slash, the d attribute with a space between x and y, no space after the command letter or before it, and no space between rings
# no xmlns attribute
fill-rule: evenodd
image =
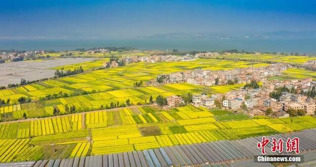
<svg viewBox="0 0 316 167"><path fill-rule="evenodd" d="M89 64L89 63L87 63ZM41 83L30 84L22 87L0 90L0 99L10 99L12 106L4 107L2 113L6 113L12 119L22 118L25 112L28 117L52 116L53 108L57 107L64 112L65 104L76 106L79 111L91 111L100 109L111 102L125 103L130 99L131 103L145 103L152 95L156 98L163 96L191 93L216 93L236 89L242 85L228 85L225 88L210 88L188 83L161 85L158 87L145 86L134 88L133 83L155 79L158 74L177 71L210 69L229 70L249 66L265 66L264 63L244 61L197 59L189 62L161 62L161 63L133 63L124 67L94 70L71 77L48 80ZM73 65L78 66L78 65ZM223 90L221 90L223 89ZM180 92L180 93L179 93ZM68 98L39 101L40 98L50 94L67 93ZM23 104L15 110L14 105L20 97L29 97L33 102ZM9 114L7 114L9 113ZM12 113L12 114L11 114Z"/></svg>

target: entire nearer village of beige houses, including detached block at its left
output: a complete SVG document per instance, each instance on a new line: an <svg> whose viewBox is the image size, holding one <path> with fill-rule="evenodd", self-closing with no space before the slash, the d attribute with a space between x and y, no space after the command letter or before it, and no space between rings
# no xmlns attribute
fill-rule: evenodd
<svg viewBox="0 0 316 167"><path fill-rule="evenodd" d="M203 106L206 108L215 107L215 101L222 102L222 107L227 110L239 110L242 108L248 109L250 115L265 114L265 111L270 108L276 117L288 117L286 112L290 109L304 110L306 114L315 114L316 101L308 98L300 92L289 93L282 92L279 99L271 98L269 95L275 88L287 87L288 89L296 89L301 91L308 91L316 82L311 78L293 81L264 81L260 88L239 89L230 91L225 94L212 94L207 96L205 94L195 94L192 97L192 104L194 106ZM179 96L167 97L169 107L174 107L184 103Z"/></svg>

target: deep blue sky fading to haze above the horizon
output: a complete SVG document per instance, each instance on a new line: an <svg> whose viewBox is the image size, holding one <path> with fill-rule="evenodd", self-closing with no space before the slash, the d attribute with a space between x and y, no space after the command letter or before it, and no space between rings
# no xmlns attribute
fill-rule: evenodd
<svg viewBox="0 0 316 167"><path fill-rule="evenodd" d="M315 31L316 0L0 0L0 39Z"/></svg>

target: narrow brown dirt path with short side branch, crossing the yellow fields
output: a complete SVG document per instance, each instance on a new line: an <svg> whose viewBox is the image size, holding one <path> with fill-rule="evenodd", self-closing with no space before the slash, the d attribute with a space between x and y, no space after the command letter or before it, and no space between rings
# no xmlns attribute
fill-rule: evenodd
<svg viewBox="0 0 316 167"><path fill-rule="evenodd" d="M157 105L153 104L153 105L128 106L128 107L121 107L121 108L115 108L115 109L106 109L106 110L95 110L95 111L87 111L87 112L78 112L78 113L71 113L71 114L67 114L67 115L50 116L50 117L44 117L44 118L28 118L28 119L21 119L21 120L15 120L15 121L0 122L0 124L17 123L17 122L27 122L27 121L31 121L31 120L41 120L41 119L46 119L46 118L57 118L57 117L63 117L63 116L76 115L76 114L79 114L79 113L82 113L82 120L84 120L84 114L90 113L90 112L116 111L116 110L121 110L121 109L131 109L131 108L145 107L145 106L157 106ZM82 121L82 126L85 127L83 121Z"/></svg>

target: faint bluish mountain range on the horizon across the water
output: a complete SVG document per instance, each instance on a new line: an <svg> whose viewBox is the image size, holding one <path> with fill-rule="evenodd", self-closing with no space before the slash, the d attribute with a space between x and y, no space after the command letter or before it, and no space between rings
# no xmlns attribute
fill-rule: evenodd
<svg viewBox="0 0 316 167"><path fill-rule="evenodd" d="M316 31L272 31L264 33L166 33L139 36L145 39L316 39Z"/></svg>

